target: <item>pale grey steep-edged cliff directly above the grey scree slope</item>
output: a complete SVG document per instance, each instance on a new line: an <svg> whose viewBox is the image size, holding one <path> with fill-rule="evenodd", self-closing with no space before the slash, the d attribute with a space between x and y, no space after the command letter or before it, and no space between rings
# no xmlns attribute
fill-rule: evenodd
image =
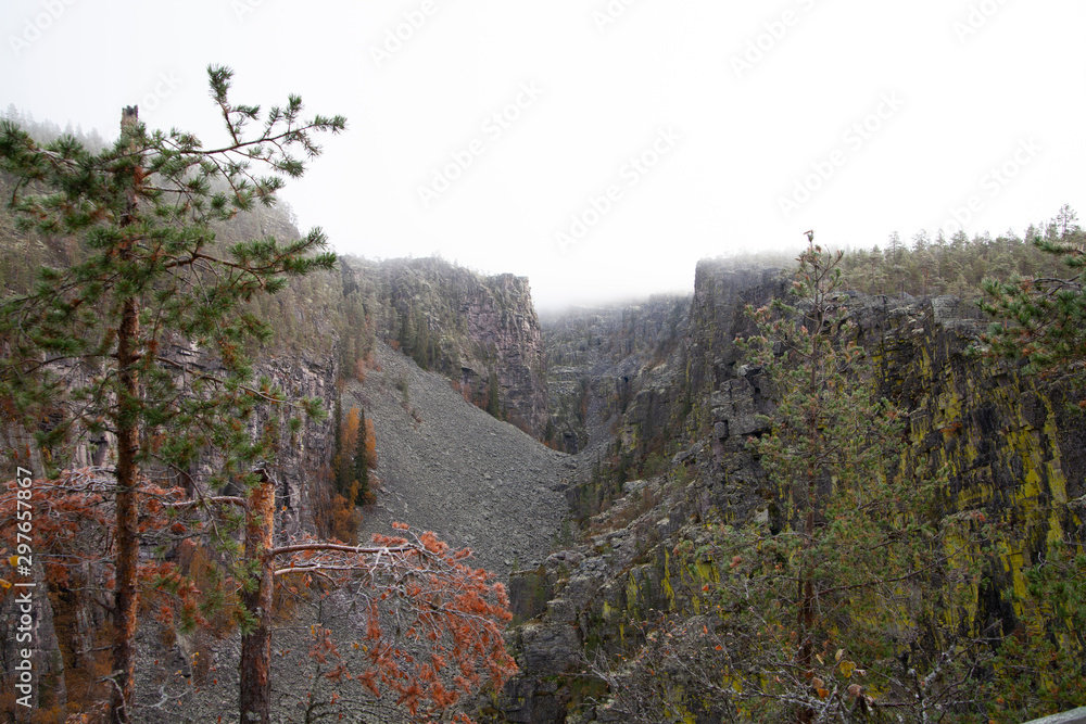
<svg viewBox="0 0 1086 724"><path fill-rule="evenodd" d="M376 334L447 377L469 402L543 437L546 358L526 278L484 277L437 258L346 258L343 275L345 295Z"/></svg>

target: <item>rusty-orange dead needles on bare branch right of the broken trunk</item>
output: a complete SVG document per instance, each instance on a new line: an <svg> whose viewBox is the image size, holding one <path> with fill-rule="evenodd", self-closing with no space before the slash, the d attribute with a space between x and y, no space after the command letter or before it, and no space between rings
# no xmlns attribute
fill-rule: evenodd
<svg viewBox="0 0 1086 724"><path fill-rule="evenodd" d="M375 535L367 548L292 550L287 570L361 579L369 600L354 644L361 660L342 656L319 627L310 656L321 671L331 668L325 676L354 681L372 698L393 697L411 721L446 721L441 716L464 695L501 689L516 672L503 636L508 597L492 574L467 566L470 550L454 550L429 531L393 528L399 535Z"/></svg>

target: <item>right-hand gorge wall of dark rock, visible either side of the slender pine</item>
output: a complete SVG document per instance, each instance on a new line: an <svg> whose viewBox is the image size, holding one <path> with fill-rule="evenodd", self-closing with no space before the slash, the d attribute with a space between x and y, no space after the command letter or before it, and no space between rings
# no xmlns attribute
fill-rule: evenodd
<svg viewBox="0 0 1086 724"><path fill-rule="evenodd" d="M700 614L703 586L727 569L699 552L711 549L705 523L787 524L782 492L745 445L766 429L759 415L771 409L773 391L732 344L749 331L743 306L784 291L776 272L698 266L685 335L655 368L677 373L634 374L611 467L597 466L569 491L583 542L513 581L517 613L528 621L513 636L521 675L490 711L494 721L622 721L599 679L584 672L601 652L637 657L646 621ZM972 551L986 573L970 592L975 604L951 615L968 630L1001 622L1011 631L1022 613L1015 593L1024 592L1023 567L1044 560L1057 538L1084 539L1081 412L1058 389L968 355L978 322L956 300L854 296L848 305L883 393L908 410L913 444L904 465L946 477L943 515L982 511L996 521L995 539ZM572 365L561 373L586 378L591 390L593 369ZM674 453L664 471L645 465L660 449ZM618 477L623 456L629 462ZM687 721L709 716L705 702L686 703Z"/></svg>

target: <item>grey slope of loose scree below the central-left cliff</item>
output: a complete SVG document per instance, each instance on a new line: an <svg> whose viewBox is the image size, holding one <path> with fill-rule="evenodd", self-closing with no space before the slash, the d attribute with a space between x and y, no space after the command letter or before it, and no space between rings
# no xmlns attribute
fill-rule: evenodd
<svg viewBox="0 0 1086 724"><path fill-rule="evenodd" d="M344 415L365 409L377 437L380 488L358 539L405 522L470 547L503 580L545 558L567 512L573 457L495 420L383 344L376 360L380 371L352 382L342 402Z"/></svg>

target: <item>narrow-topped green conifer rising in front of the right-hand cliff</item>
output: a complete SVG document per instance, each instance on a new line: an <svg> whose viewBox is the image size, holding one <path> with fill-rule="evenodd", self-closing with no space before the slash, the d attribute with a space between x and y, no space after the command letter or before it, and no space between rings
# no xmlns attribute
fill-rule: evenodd
<svg viewBox="0 0 1086 724"><path fill-rule="evenodd" d="M775 607L766 601L768 646L758 657L768 655L763 670L772 670L783 653L776 663L790 675L763 687L758 704L791 698L800 722L815 721L831 682L851 683L854 664L841 668L842 660L862 669L873 663L863 658L886 656L871 645L907 599L901 582L913 572L911 546L893 543L911 523L896 509L888 469L900 454L900 420L875 396L863 350L848 339L839 261L809 246L794 302L756 313L759 334L744 344L779 393L772 432L752 444L793 512L781 533L756 533L736 568L749 558L761 593L781 597ZM884 539L891 545L879 545ZM847 659L835 660L837 649Z"/></svg>

